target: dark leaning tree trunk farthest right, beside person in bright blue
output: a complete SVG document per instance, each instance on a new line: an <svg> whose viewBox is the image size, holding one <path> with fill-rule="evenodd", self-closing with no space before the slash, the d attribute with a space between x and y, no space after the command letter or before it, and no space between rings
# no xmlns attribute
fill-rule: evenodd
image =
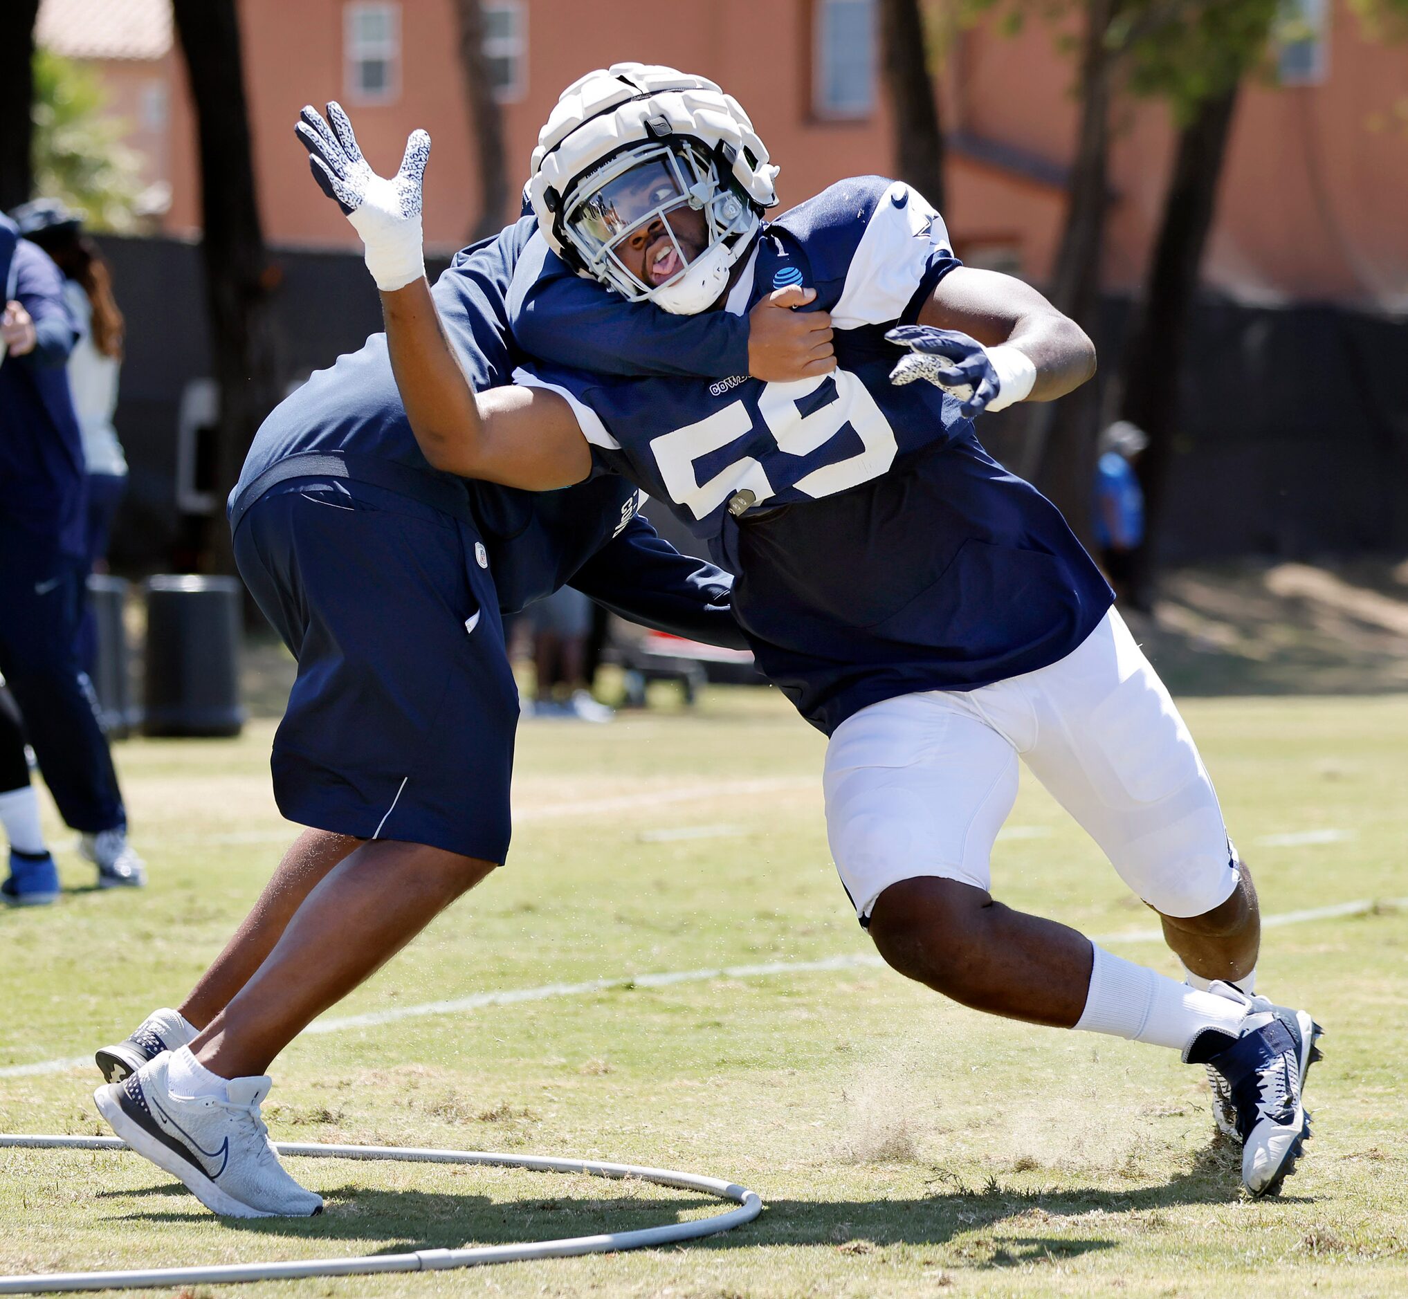
<svg viewBox="0 0 1408 1299"><path fill-rule="evenodd" d="M1125 352L1119 415L1149 436L1138 462L1145 493L1145 539L1135 552L1132 574L1133 604L1140 608L1148 608L1153 597L1159 525L1178 429L1178 377L1238 90L1233 83L1225 93L1204 100L1197 117L1178 134L1149 284Z"/></svg>

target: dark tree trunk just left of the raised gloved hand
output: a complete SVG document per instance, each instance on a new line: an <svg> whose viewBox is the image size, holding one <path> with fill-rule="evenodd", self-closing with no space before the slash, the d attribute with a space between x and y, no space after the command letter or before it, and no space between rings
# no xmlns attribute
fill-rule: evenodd
<svg viewBox="0 0 1408 1299"><path fill-rule="evenodd" d="M173 0L172 7L196 104L201 260L211 367L220 387L217 504L201 564L230 573L234 555L225 497L259 422L279 400L269 303L275 273L259 225L235 0Z"/></svg>

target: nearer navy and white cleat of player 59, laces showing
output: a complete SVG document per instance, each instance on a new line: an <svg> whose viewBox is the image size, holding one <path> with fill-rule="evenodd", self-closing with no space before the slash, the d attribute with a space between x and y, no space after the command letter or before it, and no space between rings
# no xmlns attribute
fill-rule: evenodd
<svg viewBox="0 0 1408 1299"><path fill-rule="evenodd" d="M1226 1033L1209 1029L1184 1056L1193 1064L1207 1064L1221 1079L1215 1092L1242 1141L1242 1185L1252 1195L1281 1189L1311 1134L1301 1088L1321 1058L1315 1044L1321 1033L1304 1010L1256 998L1242 1034L1231 1044Z"/></svg>

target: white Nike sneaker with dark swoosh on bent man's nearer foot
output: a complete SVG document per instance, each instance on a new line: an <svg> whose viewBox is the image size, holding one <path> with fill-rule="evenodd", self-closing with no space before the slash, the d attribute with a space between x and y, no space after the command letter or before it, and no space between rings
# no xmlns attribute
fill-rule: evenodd
<svg viewBox="0 0 1408 1299"><path fill-rule="evenodd" d="M311 1217L322 1196L304 1191L279 1162L259 1102L269 1078L231 1078L230 1099L176 1096L168 1085L172 1053L149 1060L124 1082L93 1092L97 1112L132 1150L184 1182L227 1217Z"/></svg>

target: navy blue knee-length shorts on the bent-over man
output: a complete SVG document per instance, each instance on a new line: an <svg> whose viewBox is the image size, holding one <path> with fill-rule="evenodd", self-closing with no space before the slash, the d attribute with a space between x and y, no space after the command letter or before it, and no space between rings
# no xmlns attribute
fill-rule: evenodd
<svg viewBox="0 0 1408 1299"><path fill-rule="evenodd" d="M293 479L239 521L235 562L298 660L279 811L501 863L518 691L474 529L382 487Z"/></svg>

